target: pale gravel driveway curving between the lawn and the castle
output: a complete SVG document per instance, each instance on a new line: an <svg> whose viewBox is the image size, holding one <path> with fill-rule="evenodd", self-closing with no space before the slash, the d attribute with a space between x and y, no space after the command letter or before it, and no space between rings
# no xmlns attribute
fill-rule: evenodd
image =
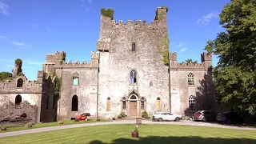
<svg viewBox="0 0 256 144"><path fill-rule="evenodd" d="M211 122L211 123L210 122L194 122L194 121L186 121L186 120L183 120L180 122L152 122L150 120L142 120L142 123L143 124L206 126L206 127L218 127L218 128L235 129L235 130L255 130L256 131L256 128L249 128L244 126L226 126L226 125L219 125L218 123L214 123L214 122ZM0 133L0 138L20 135L20 134L38 133L38 132L50 131L50 130L77 128L82 126L102 126L102 125L113 125L113 124L135 124L135 120L117 120L113 122L82 123L82 124L75 124L75 125L42 127L42 128L30 129L30 130L18 130L18 131Z"/></svg>

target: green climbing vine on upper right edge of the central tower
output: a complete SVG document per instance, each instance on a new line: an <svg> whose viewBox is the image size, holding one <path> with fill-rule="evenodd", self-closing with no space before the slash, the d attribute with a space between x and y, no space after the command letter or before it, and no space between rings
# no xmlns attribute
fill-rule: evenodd
<svg viewBox="0 0 256 144"><path fill-rule="evenodd" d="M162 42L158 45L158 53L162 54L162 62L164 62L165 65L168 65L170 63L169 60L169 43L170 40L168 36L166 35Z"/></svg>

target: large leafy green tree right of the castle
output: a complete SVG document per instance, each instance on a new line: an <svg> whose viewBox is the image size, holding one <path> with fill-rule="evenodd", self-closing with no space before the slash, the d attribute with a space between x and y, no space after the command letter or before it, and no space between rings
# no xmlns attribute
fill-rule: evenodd
<svg viewBox="0 0 256 144"><path fill-rule="evenodd" d="M256 113L256 2L232 0L219 14L226 29L206 50L218 55L214 68L219 102L251 115Z"/></svg>

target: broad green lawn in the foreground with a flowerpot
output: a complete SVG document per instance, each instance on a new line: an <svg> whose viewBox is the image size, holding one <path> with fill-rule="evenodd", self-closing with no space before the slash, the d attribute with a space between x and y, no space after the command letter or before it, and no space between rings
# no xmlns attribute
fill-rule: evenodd
<svg viewBox="0 0 256 144"><path fill-rule="evenodd" d="M201 126L141 125L139 138L131 138L135 125L89 126L0 138L0 143L256 143L255 131Z"/></svg>

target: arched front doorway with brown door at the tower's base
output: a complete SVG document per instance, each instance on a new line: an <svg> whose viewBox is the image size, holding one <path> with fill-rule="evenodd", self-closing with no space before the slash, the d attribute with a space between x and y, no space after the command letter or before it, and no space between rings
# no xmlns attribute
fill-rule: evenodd
<svg viewBox="0 0 256 144"><path fill-rule="evenodd" d="M129 102L129 111L128 115L131 117L138 116L139 112L139 99L136 94L130 94L130 97L128 98Z"/></svg>

